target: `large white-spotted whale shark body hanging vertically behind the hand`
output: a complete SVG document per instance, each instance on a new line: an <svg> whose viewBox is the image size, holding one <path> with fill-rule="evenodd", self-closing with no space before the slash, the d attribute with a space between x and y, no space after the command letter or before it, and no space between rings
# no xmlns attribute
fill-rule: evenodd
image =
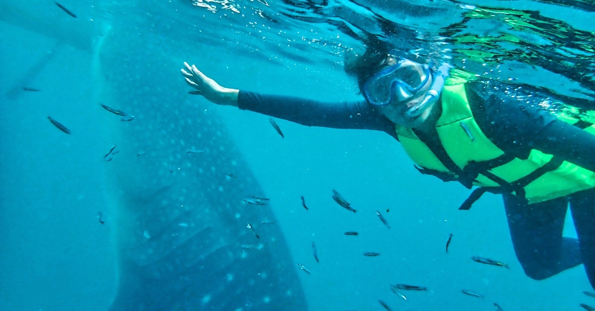
<svg viewBox="0 0 595 311"><path fill-rule="evenodd" d="M126 33L115 25L99 54L99 100L135 117L97 103L120 150L105 163L118 202L110 310L307 310L278 224L263 224L270 205L242 200L264 193L220 118L187 95L173 48L135 48L167 38Z"/></svg>

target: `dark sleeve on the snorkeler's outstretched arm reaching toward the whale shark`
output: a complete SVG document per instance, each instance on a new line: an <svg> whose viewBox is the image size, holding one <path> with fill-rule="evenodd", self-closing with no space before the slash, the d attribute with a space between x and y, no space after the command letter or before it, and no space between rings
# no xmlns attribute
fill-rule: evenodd
<svg viewBox="0 0 595 311"><path fill-rule="evenodd" d="M321 102L240 90L238 107L306 126L376 130L396 136L394 123L365 101Z"/></svg>

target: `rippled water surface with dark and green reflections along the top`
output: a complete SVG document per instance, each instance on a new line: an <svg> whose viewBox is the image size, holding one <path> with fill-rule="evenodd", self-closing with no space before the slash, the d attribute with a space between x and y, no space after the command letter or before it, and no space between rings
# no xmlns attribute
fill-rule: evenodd
<svg viewBox="0 0 595 311"><path fill-rule="evenodd" d="M127 4L112 5L120 10L108 11L127 11ZM571 102L594 97L595 26L588 21L595 18L595 5L587 1L192 0L140 5L146 16L139 15L139 25L149 25L139 27L180 42L223 45L258 61L342 70L346 51L362 51L362 42L381 40L409 58L449 61L511 87L530 84ZM592 108L584 102L572 103Z"/></svg>

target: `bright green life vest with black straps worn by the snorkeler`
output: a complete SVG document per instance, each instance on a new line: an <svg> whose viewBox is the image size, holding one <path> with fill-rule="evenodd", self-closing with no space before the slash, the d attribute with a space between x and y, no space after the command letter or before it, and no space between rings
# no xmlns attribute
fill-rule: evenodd
<svg viewBox="0 0 595 311"><path fill-rule="evenodd" d="M449 78L441 95L442 113L436 122L441 146L427 143L412 128L396 126L396 133L405 152L419 171L444 181L459 181L475 189L461 206L468 209L481 194L512 193L528 203L543 202L576 191L595 187L595 173L556 156L531 150L527 159L515 158L490 142L478 127L465 93L466 80ZM558 115L571 124L584 123L568 115ZM595 134L595 126L584 128Z"/></svg>

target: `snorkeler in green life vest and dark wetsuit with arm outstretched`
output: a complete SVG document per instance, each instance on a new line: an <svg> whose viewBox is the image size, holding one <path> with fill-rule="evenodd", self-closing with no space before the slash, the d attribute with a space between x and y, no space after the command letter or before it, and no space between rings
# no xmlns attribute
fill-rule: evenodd
<svg viewBox="0 0 595 311"><path fill-rule="evenodd" d="M184 62L181 73L218 105L308 126L384 131L423 174L502 194L525 274L545 279L584 263L595 288L595 126L541 106L552 94L493 80L449 77L450 66L419 64L369 46L345 62L365 100L326 103L228 89ZM562 121L563 120L563 121ZM593 131L595 133L595 131ZM578 239L562 237L570 203Z"/></svg>

